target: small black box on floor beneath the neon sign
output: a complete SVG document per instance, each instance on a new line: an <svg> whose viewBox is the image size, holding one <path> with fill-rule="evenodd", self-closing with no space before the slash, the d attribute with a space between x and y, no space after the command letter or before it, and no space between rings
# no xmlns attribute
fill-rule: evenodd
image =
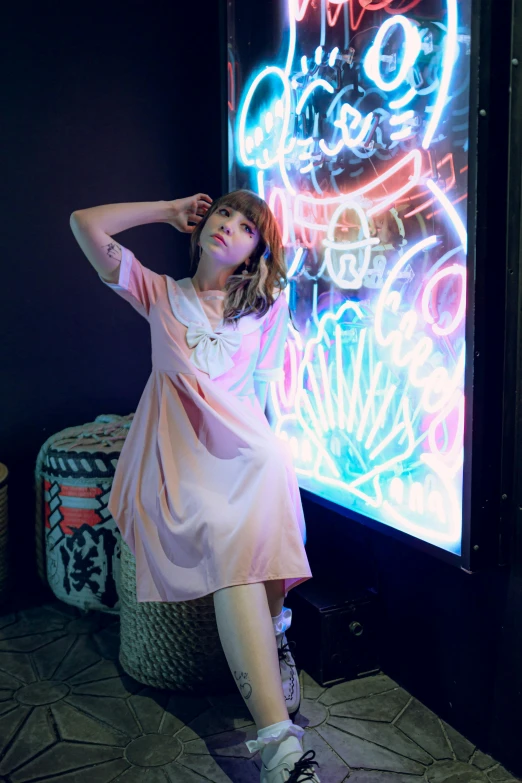
<svg viewBox="0 0 522 783"><path fill-rule="evenodd" d="M377 594L373 590L331 586L311 579L290 590L288 641L295 661L322 686L379 671Z"/></svg>

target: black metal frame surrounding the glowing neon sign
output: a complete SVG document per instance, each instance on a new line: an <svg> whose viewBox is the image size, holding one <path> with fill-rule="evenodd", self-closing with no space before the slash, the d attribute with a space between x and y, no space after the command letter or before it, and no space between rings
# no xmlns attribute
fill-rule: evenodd
<svg viewBox="0 0 522 783"><path fill-rule="evenodd" d="M522 0L517 0L522 4ZM228 46L233 43L229 30L229 12L232 0L222 0L223 47L223 184L228 188L228 112L227 112L227 57ZM346 509L309 490L302 489L307 498L328 507L338 514L363 523L435 555L446 562L460 565L466 571L475 571L501 563L502 540L500 528L501 504L501 454L503 453L503 481L509 483L509 446L502 447L502 431L507 440L513 438L514 369L513 341L509 340L509 356L506 364L508 393L504 394L504 302L506 278L514 282L514 272L506 269L505 223L507 208L507 144L495 143L507 139L507 79L505 64L497 52L509 47L509 21L506 24L500 9L494 11L493 0L472 0L471 73L470 73L470 151L468 218L468 290L466 319L466 420L464 434L464 482L462 552L455 555L435 545L402 533L370 517ZM507 31L507 32L506 32ZM493 49L493 42L495 48ZM495 57L493 57L495 54ZM520 68L522 68L522 61ZM499 87L506 84L504 94ZM520 105L520 98L519 98ZM522 109L521 109L522 110ZM504 131L504 136L502 132ZM520 154L520 151L519 151ZM512 202L513 202L512 197ZM516 202L516 220L520 220L520 186ZM518 225L511 219L511 232ZM518 252L522 238L517 235L516 250L512 240L510 253ZM494 259L494 265L492 264ZM510 265L513 267L513 264ZM493 274L492 274L493 273ZM522 278L517 271L517 304L510 296L508 328L513 328L513 307L520 315L518 302L522 302ZM494 308L492 305L492 298ZM491 317L493 313L493 318ZM520 326L520 324L519 324ZM522 343L517 341L518 371L522 369ZM518 376L519 377L519 376ZM504 425L504 426L503 426ZM517 408L518 432L522 433L522 406ZM522 471L518 481L519 523L522 525ZM506 493L505 494L510 494ZM506 528L504 521L504 530ZM522 550L522 536L519 547ZM522 551L521 553L522 554Z"/></svg>

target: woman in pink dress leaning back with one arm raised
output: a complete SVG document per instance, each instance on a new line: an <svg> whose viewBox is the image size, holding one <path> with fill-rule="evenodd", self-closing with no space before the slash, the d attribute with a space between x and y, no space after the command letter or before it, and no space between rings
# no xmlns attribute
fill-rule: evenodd
<svg viewBox="0 0 522 783"><path fill-rule="evenodd" d="M144 267L113 235L163 222L192 234L192 278ZM76 211L73 233L150 325L152 373L109 509L136 557L139 601L213 594L219 635L258 728L263 783L315 781L286 645L288 590L311 577L295 472L264 415L288 325L283 247L256 194ZM276 643L274 643L274 635Z"/></svg>

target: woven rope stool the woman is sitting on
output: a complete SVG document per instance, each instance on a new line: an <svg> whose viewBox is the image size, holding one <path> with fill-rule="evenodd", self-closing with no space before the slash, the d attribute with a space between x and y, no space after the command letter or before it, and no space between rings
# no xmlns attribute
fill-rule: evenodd
<svg viewBox="0 0 522 783"><path fill-rule="evenodd" d="M236 691L212 595L179 603L136 600L136 561L122 541L120 663L144 685L191 693Z"/></svg>

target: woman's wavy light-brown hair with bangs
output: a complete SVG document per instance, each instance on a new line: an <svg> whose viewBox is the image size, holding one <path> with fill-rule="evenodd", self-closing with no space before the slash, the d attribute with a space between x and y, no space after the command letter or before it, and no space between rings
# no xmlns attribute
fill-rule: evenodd
<svg viewBox="0 0 522 783"><path fill-rule="evenodd" d="M287 285L281 233L266 201L250 190L235 190L216 199L192 232L192 264L199 261L199 238L208 217L222 207L241 212L259 231L259 242L250 254L250 264L241 264L227 280L223 307L225 323L234 323L243 315L264 315L273 305L275 294Z"/></svg>

